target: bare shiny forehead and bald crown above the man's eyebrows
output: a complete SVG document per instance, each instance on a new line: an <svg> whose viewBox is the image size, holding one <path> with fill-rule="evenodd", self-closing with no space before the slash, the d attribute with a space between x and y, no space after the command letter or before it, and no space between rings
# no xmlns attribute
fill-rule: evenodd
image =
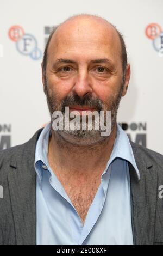
<svg viewBox="0 0 163 256"><path fill-rule="evenodd" d="M96 56L95 56L96 55ZM115 28L102 19L72 19L59 26L48 47L48 59L121 59L121 44Z"/></svg>

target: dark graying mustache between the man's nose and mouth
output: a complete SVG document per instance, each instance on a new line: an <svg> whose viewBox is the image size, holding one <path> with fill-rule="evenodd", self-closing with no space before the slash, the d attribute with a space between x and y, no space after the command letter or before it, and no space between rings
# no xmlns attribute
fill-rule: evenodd
<svg viewBox="0 0 163 256"><path fill-rule="evenodd" d="M98 112L103 110L103 103L98 98L93 99L90 95L85 95L83 97L80 97L79 95L71 95L61 101L60 111L64 113L65 107L70 107L72 105L78 105L80 107L88 106L90 108L95 108Z"/></svg>

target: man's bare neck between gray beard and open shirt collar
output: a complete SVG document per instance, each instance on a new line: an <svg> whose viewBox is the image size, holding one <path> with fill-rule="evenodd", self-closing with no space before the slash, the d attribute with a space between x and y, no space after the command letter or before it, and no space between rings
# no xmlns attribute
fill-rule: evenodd
<svg viewBox="0 0 163 256"><path fill-rule="evenodd" d="M73 144L52 130L49 138L48 161L55 172L62 174L92 174L103 172L116 138L116 125L103 142L95 145ZM102 173L101 173L102 174Z"/></svg>

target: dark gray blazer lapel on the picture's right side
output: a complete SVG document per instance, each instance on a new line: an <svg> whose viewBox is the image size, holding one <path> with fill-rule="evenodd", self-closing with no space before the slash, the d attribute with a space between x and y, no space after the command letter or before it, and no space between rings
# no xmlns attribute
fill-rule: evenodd
<svg viewBox="0 0 163 256"><path fill-rule="evenodd" d="M157 175L155 175L151 160L143 154L142 150L139 151L132 143L131 145L140 172L140 180L138 180L134 167L129 163L134 243L153 245L158 190Z"/></svg>

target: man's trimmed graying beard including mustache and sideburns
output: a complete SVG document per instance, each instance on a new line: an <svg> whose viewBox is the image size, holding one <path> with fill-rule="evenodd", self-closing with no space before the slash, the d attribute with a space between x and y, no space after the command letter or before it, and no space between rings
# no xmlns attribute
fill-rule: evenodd
<svg viewBox="0 0 163 256"><path fill-rule="evenodd" d="M47 85L45 88L45 93L47 96L47 103L48 103L48 108L49 112L51 114L51 120L53 121L52 114L54 111L61 111L63 114L63 117L65 117L64 113L64 107L65 106L71 106L71 105L87 105L90 107L95 107L97 111L111 111L111 133L112 130L114 129L116 125L116 118L117 118L117 111L118 107L120 105L120 100L121 100L121 95L122 95L122 89L123 86L121 87L120 92L118 93L116 99L110 102L110 105L105 107L103 103L99 99L90 99L88 97L84 97L83 99L79 99L79 96L67 96L67 99L62 100L59 103L57 103L57 97L55 95L50 96L48 93ZM77 97L77 99L76 99ZM70 118L69 118L70 119ZM69 120L71 121L71 119ZM93 120L93 129L92 130L57 130L53 131L55 135L58 138L62 138L66 142L70 142L72 144L76 145L95 145L97 143L101 143L108 139L109 136L101 136L101 127L99 127L99 130L95 130L95 122L96 120ZM64 123L64 127L65 127ZM79 125L79 124L78 124ZM80 124L81 125L81 124ZM82 127L82 126L81 126Z"/></svg>

